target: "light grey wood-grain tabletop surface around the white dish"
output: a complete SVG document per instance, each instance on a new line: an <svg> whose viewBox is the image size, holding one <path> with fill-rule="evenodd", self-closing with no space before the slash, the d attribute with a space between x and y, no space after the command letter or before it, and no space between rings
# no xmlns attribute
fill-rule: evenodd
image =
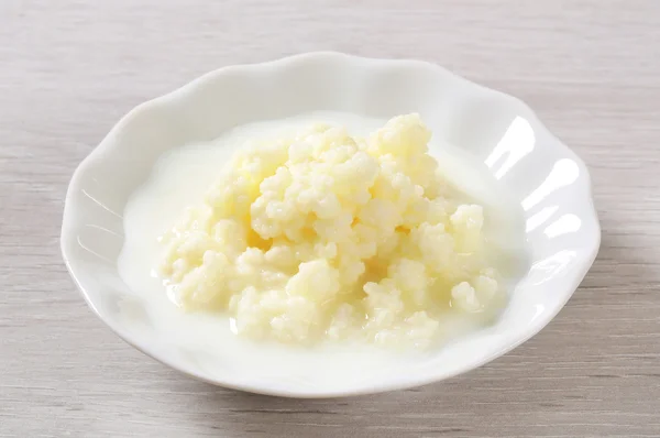
<svg viewBox="0 0 660 438"><path fill-rule="evenodd" d="M660 436L660 1L0 0L0 436ZM217 388L96 319L62 263L65 189L133 106L220 66L415 57L526 100L588 164L590 274L540 335L417 390Z"/></svg>

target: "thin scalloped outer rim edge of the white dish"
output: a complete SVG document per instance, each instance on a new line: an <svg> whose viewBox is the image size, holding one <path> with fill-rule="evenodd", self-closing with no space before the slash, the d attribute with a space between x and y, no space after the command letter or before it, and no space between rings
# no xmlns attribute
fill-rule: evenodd
<svg viewBox="0 0 660 438"><path fill-rule="evenodd" d="M140 112L148 111L152 108L161 107L163 105L175 105L177 100L186 99L187 95L189 95L195 88L205 87L206 85L210 84L211 81L220 79L226 74L240 72L242 69L244 69L246 72L251 72L251 70L267 70L267 69L275 69L275 68L293 68L293 67L295 67L295 63L297 63L297 62L306 62L306 61L311 61L311 59L320 61L323 58L326 58L326 59L341 58L342 62L361 63L361 64L365 64L365 65L366 64L381 65L381 66L410 65L410 66L417 66L417 67L427 68L427 69L432 68L435 72L447 76L451 80L462 81L464 84L470 85L471 87L474 87L475 89L479 89L482 92L494 94L494 95L497 95L502 99L506 99L510 102L515 102L516 105L519 105L521 108L525 109L527 117L534 119L536 128L542 129L544 131L544 134L549 139L552 139L553 143L558 147L561 147L562 154L568 155L572 161L574 161L578 164L578 166L580 167L580 172L585 175L583 180L584 180L584 184L586 184L586 194L587 194L588 212L590 212L588 216L590 216L590 219L592 219L591 220L592 223L590 223L590 227L591 227L591 232L593 233L593 236L592 236L593 241L592 241L592 245L590 248L588 263L585 263L582 266L582 269L580 270L580 272L578 272L573 276L573 278L566 280L566 283L570 282L572 284L572 286L566 288L568 292L564 293L561 305L559 305L556 309L553 309L553 311L546 311L543 314L543 317L539 318L537 324L531 329L528 329L524 333L524 336L521 336L519 339L517 339L516 342L504 346L502 349L498 349L496 352L483 358L483 360L480 360L479 363L473 364L472 366L469 366L469 368L465 368L465 369L462 369L462 370L459 370L455 372L451 372L451 373L444 373L439 376L428 376L426 379L409 379L409 380L405 380L402 382L385 382L381 385L377 385L377 387L376 386L358 387L353 391L343 390L340 392L332 392L332 391L330 391L330 392L305 392L305 391L300 392L300 391L296 391L295 388L289 390L289 391L280 390L280 388L270 390L270 388L260 387L258 384L256 384L256 385L237 384L237 383L232 383L231 381L221 381L218 379L216 379L216 380L207 379L204 375L200 375L199 373L196 373L194 371L190 371L188 369L179 366L178 364L173 363L170 360L168 360L168 358L166 358L166 357L164 358L161 354L158 354L157 351L153 351L153 348L151 348L150 346L143 346L140 342L138 342L136 340L131 339L131 337L129 335L127 335L122 330L122 328L119 327L119 325L108 320L99 313L97 306L90 299L88 293L86 292L85 287L80 283L80 280L79 280L78 275L76 274L76 269L72 265L72 258L69 255L69 251L67 248L67 244L68 244L67 242L70 241L69 232L72 231L72 227L73 227L72 211L73 211L74 207L72 206L72 197L73 197L72 195L73 195L74 190L78 187L79 179L80 179L81 175L84 174L84 172L87 169L87 167L91 163L96 162L97 160L100 160L110 150L110 147L111 147L110 140L114 135L117 135L117 133L120 132L125 124L130 123L131 120L133 118L135 118L135 116L139 114ZM64 206L64 212L63 212L62 234L61 234L61 250L62 250L63 259L64 259L65 265L67 267L67 271L69 272L72 278L74 280L74 283L75 283L76 287L78 288L79 293L82 295L85 302L91 308L91 310L97 315L97 317L101 321L103 321L117 336L119 336L121 339L123 339L127 343L133 346L135 349L142 351L144 354L155 359L156 361L158 361L167 366L170 366L184 374L187 374L191 377L198 379L200 381L204 381L204 382L207 382L210 384L220 385L220 386L228 387L228 388L246 391L246 392L251 392L251 393L257 393L257 394L299 397L299 398L326 398L326 397L339 397L339 396L354 396L354 395L361 395L361 394L375 394L375 393L382 393L382 392L386 392L386 391L403 390L403 388L407 388L407 387L425 385L425 384L438 382L438 381L449 379L449 377L462 374L464 372L474 370L487 362L491 362L492 360L494 360L503 354L506 354L507 352L512 351L516 347L520 346L521 343L526 342L527 340L532 338L535 335L537 335L543 327L546 327L557 316L557 314L559 314L559 311L564 307L564 305L571 298L571 296L573 295L573 293L575 292L575 289L578 288L578 286L580 285L580 283L584 278L584 276L586 275L588 269L593 264L593 262L597 255L600 244L601 244L601 228L600 228L600 223L598 223L597 212L596 212L594 201L593 201L591 177L588 175L588 169L587 169L585 163L569 146L566 146L560 139L558 139L554 134L552 134L546 128L546 125L538 119L535 111L529 106L527 106L524 101L521 101L520 99L518 99L514 96L510 96L508 94L505 94L505 92L479 85L476 83L473 83L464 77L453 74L450 70L448 70L437 64L430 63L430 62L417 61L417 59L371 58L371 57L362 57L362 56L350 55L350 54L344 54L344 53L339 53L339 52L311 52L311 53L297 54L297 55L293 55L293 56L278 58L278 59L267 61L267 62L263 62L263 63L226 66L226 67L212 70L212 72L209 72L207 74L204 74L204 75L193 79L191 81L176 88L175 90L173 90L170 92L164 94L160 97L156 97L154 99L151 99L143 103L138 105L132 110L130 110L125 116L123 116L113 125L113 128L102 139L102 141L99 143L99 145L96 146L76 167L76 169L72 176L67 193L66 193L66 199L65 199L65 206Z"/></svg>

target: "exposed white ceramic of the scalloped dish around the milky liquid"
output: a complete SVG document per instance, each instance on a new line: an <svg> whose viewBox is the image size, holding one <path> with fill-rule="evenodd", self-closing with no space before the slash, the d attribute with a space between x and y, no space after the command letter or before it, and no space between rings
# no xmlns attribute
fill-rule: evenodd
<svg viewBox="0 0 660 438"><path fill-rule="evenodd" d="M237 124L315 110L375 118L420 112L435 135L483 160L520 201L531 267L497 324L439 349L407 373L346 380L332 387L314 373L270 375L264 370L263 375L244 375L240 364L205 366L200 360L205 352L182 349L150 329L144 310L148 304L123 284L117 258L125 202L158 155L185 143L212 140ZM222 68L139 106L75 172L62 228L63 255L85 299L129 343L222 386L300 397L420 385L504 354L563 307L593 263L600 240L586 167L522 102L428 63L337 53Z"/></svg>

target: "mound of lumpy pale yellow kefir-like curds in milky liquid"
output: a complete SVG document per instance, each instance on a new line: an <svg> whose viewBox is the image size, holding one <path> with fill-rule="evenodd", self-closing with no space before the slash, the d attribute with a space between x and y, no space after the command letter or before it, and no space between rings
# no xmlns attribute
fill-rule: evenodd
<svg viewBox="0 0 660 438"><path fill-rule="evenodd" d="M406 114L239 150L162 236L157 273L184 310L228 315L240 336L425 348L443 318L505 297L484 209L449 189L430 139Z"/></svg>

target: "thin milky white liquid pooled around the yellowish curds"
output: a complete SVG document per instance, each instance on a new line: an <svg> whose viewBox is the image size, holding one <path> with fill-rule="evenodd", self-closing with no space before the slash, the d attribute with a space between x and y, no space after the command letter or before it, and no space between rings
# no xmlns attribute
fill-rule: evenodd
<svg viewBox="0 0 660 438"><path fill-rule="evenodd" d="M155 164L148 180L130 198L124 210L125 242L118 260L122 280L147 305L148 318L167 341L189 351L204 351L202 366L239 366L241 373L264 372L273 375L307 375L323 379L359 379L356 370L391 372L420 354L400 352L370 344L321 344L299 348L257 342L235 336L229 318L222 315L185 313L168 298L162 281L153 275L162 254L158 237L175 225L184 209L204 201L223 165L238 147L250 139L277 139L283 132L297 130L314 122L344 125L351 135L366 135L386 120L366 119L337 112L315 112L295 118L250 123L234 128L207 144L194 144L164 154ZM429 145L440 171L465 201L484 207L484 233L490 242L492 266L509 278L510 287L524 271L525 236L518 204L509 199L486 166L469 154L439 141ZM483 327L479 316L457 316L441 321L448 339ZM441 348L441 346L439 347ZM319 354L322 352L322 354ZM199 361L199 358L197 358Z"/></svg>

